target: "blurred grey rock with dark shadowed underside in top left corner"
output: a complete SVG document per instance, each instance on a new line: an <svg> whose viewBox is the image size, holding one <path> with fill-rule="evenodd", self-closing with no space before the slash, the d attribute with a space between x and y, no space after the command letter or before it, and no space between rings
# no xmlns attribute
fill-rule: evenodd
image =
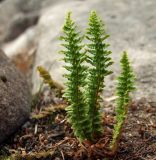
<svg viewBox="0 0 156 160"><path fill-rule="evenodd" d="M5 0L0 3L0 44L17 38L37 23L40 13L55 0Z"/></svg>

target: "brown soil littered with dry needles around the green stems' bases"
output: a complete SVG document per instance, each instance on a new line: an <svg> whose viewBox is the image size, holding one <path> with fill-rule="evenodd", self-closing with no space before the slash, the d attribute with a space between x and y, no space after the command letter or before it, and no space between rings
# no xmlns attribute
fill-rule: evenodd
<svg viewBox="0 0 156 160"><path fill-rule="evenodd" d="M95 144L80 144L66 121L66 104L48 95L49 99L47 94L46 98L40 96L29 121L0 146L1 156L11 155L17 160L156 159L156 103L146 99L131 103L118 150L112 156L108 145L114 123L113 105L111 112L103 113L104 135Z"/></svg>

